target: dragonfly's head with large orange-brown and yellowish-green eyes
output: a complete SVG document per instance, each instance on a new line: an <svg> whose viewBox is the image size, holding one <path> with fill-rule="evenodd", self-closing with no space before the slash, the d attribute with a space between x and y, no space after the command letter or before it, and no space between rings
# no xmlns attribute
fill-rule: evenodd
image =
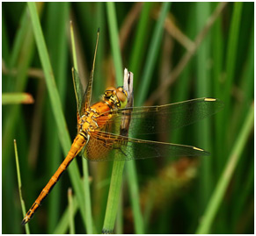
<svg viewBox="0 0 256 236"><path fill-rule="evenodd" d="M117 108L125 108L127 104L127 97L128 93L122 87L108 87L103 95L103 99L105 101L111 102Z"/></svg>

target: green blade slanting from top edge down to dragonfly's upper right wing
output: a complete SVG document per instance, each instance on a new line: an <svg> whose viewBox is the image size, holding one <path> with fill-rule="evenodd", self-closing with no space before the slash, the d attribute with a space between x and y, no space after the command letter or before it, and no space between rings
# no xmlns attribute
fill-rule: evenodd
<svg viewBox="0 0 256 236"><path fill-rule="evenodd" d="M163 25L165 23L165 18L170 7L171 7L171 3L165 2L162 5L160 17L157 20L157 25L155 27L155 30L153 32L153 36L150 42L150 51L147 56L147 61L145 62L145 68L143 70L142 82L140 86L141 89L140 89L140 93L137 95L135 99L135 106L142 105L145 98L147 97L147 93L150 88L150 80L152 78L152 73L157 61L157 52L159 50L162 35L164 32Z"/></svg>

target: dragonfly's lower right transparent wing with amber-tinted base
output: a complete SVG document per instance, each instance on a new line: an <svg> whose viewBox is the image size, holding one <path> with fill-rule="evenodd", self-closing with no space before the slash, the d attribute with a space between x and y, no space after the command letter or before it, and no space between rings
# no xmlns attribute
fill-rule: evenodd
<svg viewBox="0 0 256 236"><path fill-rule="evenodd" d="M93 132L85 147L90 161L128 161L162 156L208 155L198 147L132 139L109 132Z"/></svg>

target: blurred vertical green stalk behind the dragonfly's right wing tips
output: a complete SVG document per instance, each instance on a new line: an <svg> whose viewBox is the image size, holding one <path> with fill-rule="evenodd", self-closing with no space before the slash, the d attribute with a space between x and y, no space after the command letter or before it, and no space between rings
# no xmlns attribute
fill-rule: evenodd
<svg viewBox="0 0 256 236"><path fill-rule="evenodd" d="M196 3L196 24L197 31L201 32L201 28L207 21L210 15L210 3ZM208 60L210 58L210 42L208 38L201 42L201 46L198 48L197 54L197 82L196 82L196 97L211 97L212 88L210 84L210 73L208 69ZM210 132L210 123L208 119L201 120L200 124L196 125L198 140L198 146L203 147L208 151L211 151L210 137L212 137ZM211 190L213 189L213 173L212 173L212 158L202 158L201 166L201 188L200 188L200 210L202 211L208 202Z"/></svg>

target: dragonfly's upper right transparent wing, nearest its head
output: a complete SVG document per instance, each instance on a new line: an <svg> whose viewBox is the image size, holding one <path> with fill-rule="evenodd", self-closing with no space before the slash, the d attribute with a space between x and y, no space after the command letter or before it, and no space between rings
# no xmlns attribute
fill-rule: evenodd
<svg viewBox="0 0 256 236"><path fill-rule="evenodd" d="M106 125L130 118L129 135L166 132L215 114L223 108L223 102L214 98L198 98L177 104L132 107L108 111L113 118ZM127 112L130 111L130 112ZM102 118L107 114L101 114ZM101 117L98 118L99 121ZM108 132L117 133L114 130Z"/></svg>

